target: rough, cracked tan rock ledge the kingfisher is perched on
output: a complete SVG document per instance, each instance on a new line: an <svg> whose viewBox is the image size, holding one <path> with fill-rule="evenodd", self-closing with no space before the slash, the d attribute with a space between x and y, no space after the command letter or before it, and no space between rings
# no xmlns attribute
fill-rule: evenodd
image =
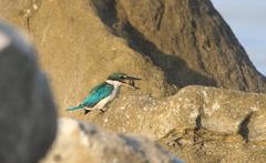
<svg viewBox="0 0 266 163"><path fill-rule="evenodd" d="M164 100L123 94L104 113L69 115L141 133L188 162L259 162L266 154L265 111L264 93L186 86Z"/></svg>

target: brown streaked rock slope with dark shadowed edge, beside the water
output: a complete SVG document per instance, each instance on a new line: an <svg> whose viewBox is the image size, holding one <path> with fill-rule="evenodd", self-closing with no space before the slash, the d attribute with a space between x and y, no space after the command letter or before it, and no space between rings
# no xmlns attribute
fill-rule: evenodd
<svg viewBox="0 0 266 163"><path fill-rule="evenodd" d="M266 92L265 77L211 1L91 1L111 32L160 67L168 83Z"/></svg>

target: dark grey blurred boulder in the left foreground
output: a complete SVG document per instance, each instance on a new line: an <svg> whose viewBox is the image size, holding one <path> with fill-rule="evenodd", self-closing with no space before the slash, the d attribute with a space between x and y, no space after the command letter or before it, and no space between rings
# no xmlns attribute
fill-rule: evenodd
<svg viewBox="0 0 266 163"><path fill-rule="evenodd" d="M35 163L51 145L57 112L29 40L0 23L0 162Z"/></svg>

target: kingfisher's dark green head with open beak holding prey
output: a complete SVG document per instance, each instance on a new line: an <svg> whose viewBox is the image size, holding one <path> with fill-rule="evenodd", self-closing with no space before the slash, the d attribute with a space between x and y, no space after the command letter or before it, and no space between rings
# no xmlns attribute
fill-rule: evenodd
<svg viewBox="0 0 266 163"><path fill-rule="evenodd" d="M114 72L108 77L109 81L119 82L122 85L126 85L133 89L140 89L135 86L135 81L141 80L140 78L130 77L122 72Z"/></svg>

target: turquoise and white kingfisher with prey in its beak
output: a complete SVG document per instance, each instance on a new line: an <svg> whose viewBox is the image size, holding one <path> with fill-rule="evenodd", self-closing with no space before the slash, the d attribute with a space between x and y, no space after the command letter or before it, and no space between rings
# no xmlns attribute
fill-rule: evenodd
<svg viewBox="0 0 266 163"><path fill-rule="evenodd" d="M84 114L88 114L92 110L100 110L104 112L106 106L117 98L122 85L140 89L135 86L135 81L140 78L130 77L122 72L114 72L110 74L105 82L94 86L89 95L78 105L68 108L66 111L84 110Z"/></svg>

